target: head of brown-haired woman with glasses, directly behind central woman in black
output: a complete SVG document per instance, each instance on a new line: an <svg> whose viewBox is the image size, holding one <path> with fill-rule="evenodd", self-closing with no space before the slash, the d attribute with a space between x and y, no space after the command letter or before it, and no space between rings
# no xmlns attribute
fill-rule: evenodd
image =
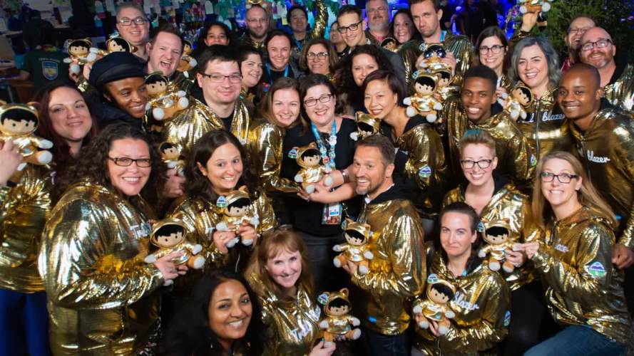
<svg viewBox="0 0 634 356"><path fill-rule="evenodd" d="M300 54L301 70L312 74L323 74L331 79L334 78L334 70L338 63L337 52L324 38L311 40Z"/></svg>

